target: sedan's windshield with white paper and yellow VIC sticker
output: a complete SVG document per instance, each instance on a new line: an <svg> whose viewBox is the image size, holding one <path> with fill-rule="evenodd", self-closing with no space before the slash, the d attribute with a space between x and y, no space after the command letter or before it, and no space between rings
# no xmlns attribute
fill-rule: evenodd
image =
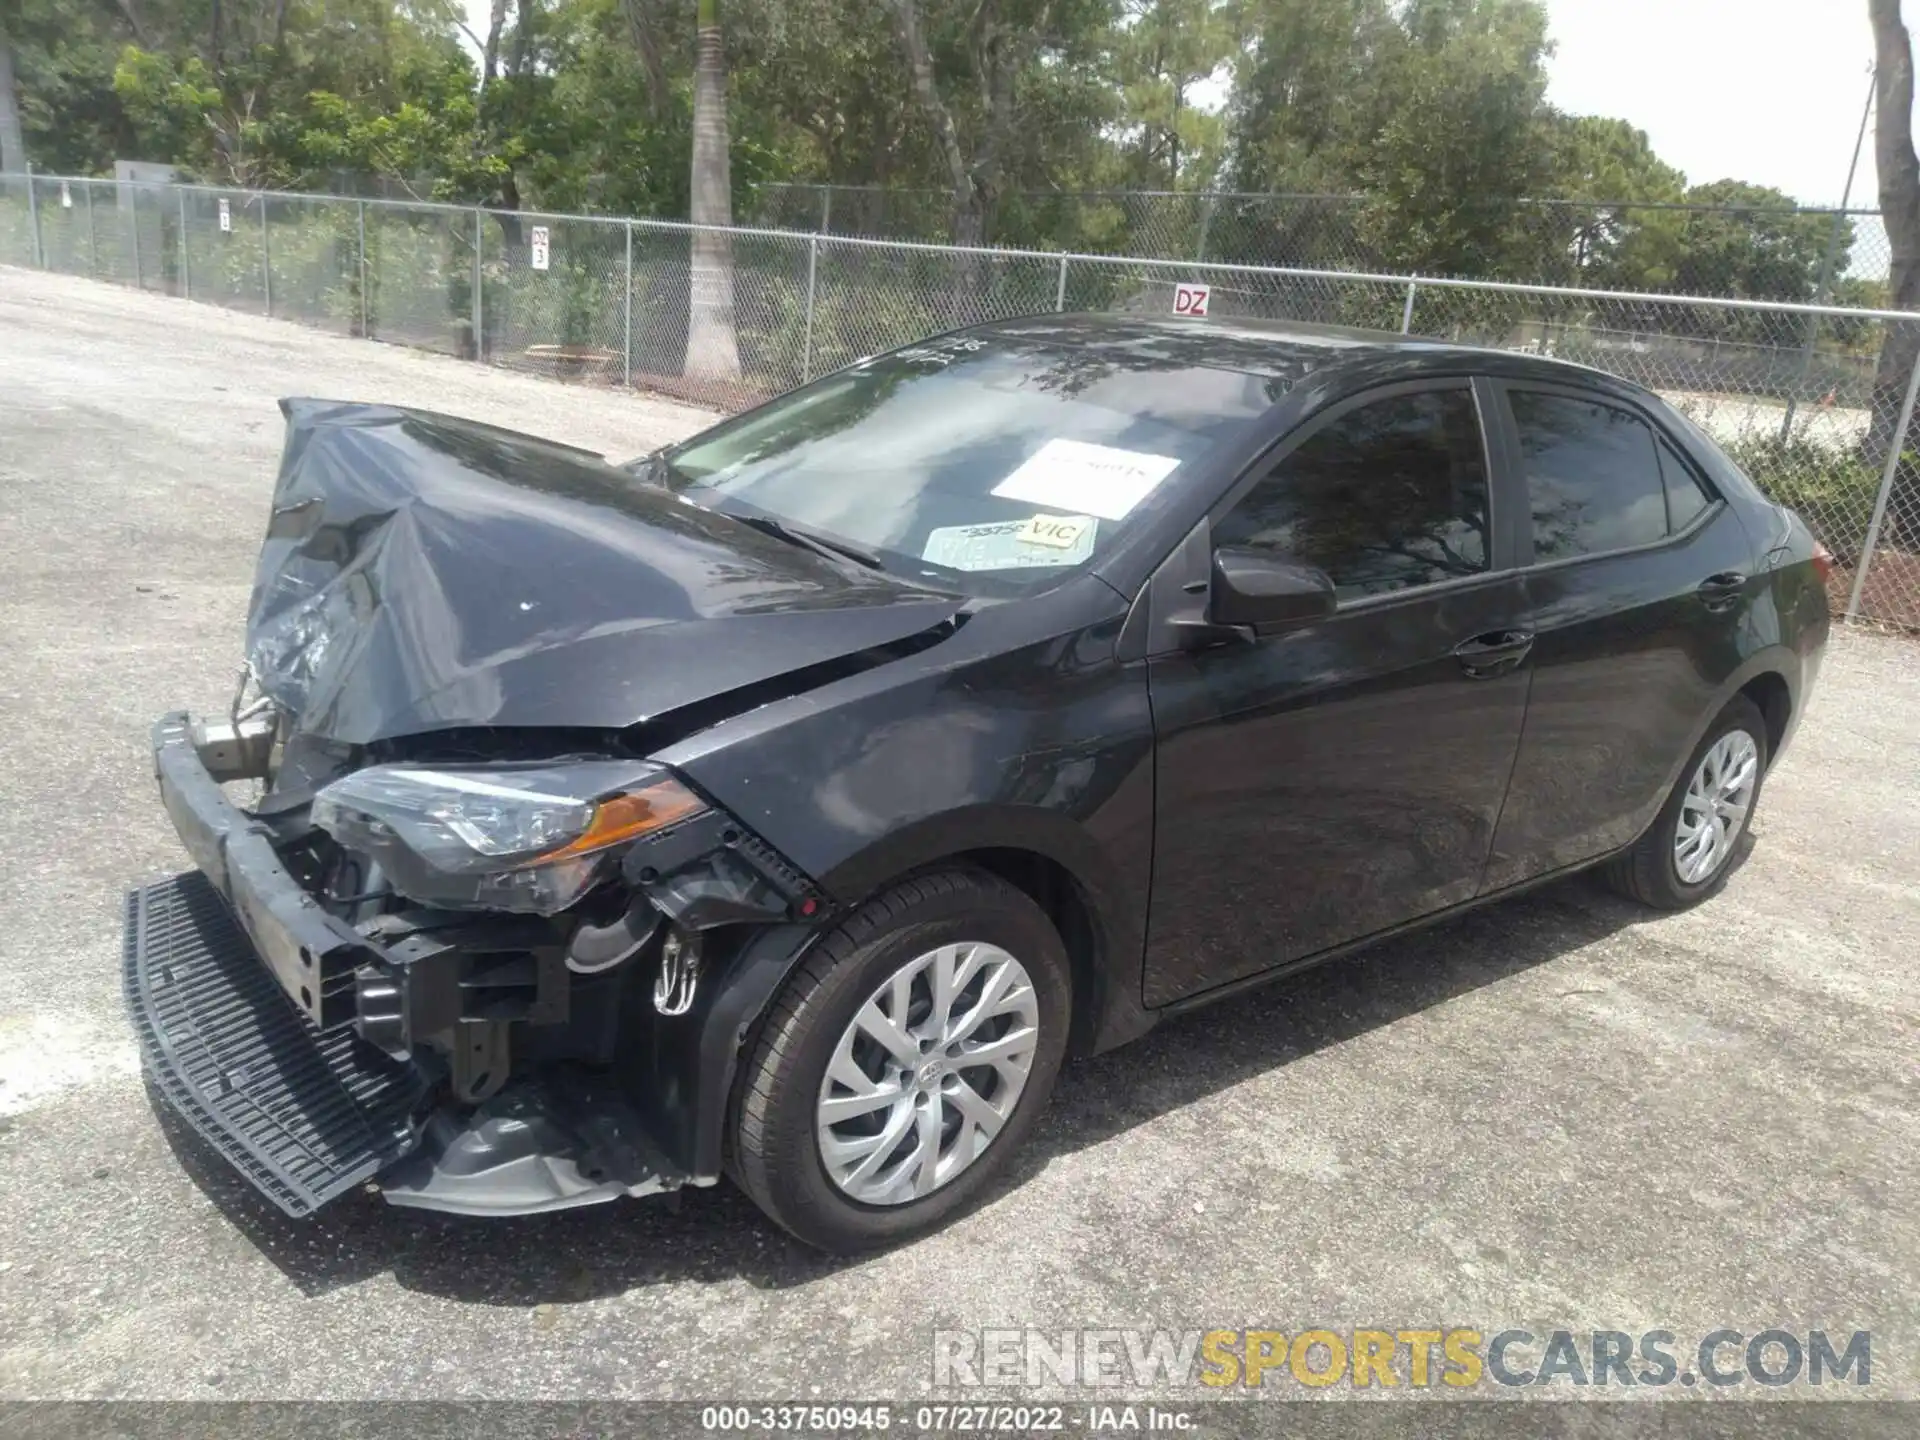
<svg viewBox="0 0 1920 1440"><path fill-rule="evenodd" d="M1018 595L1094 561L1271 388L1164 353L943 336L689 440L664 478L902 578Z"/></svg>

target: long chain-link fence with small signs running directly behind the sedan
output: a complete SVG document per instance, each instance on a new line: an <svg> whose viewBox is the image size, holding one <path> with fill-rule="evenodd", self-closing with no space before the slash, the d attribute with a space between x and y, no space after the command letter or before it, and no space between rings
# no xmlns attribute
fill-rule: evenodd
<svg viewBox="0 0 1920 1440"><path fill-rule="evenodd" d="M977 321L1165 315L1202 282L1215 323L1526 349L1657 390L1807 516L1837 609L1920 630L1920 315L58 177L0 177L0 263L720 409Z"/></svg>

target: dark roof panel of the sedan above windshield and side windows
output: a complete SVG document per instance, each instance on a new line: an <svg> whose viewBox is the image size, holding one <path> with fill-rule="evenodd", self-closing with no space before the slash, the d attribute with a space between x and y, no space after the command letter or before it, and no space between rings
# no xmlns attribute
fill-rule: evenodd
<svg viewBox="0 0 1920 1440"><path fill-rule="evenodd" d="M1421 371L1465 369L1509 378L1586 384L1599 380L1609 388L1640 390L1640 386L1605 371L1544 355L1311 321L1250 317L1187 321L1125 311L1085 311L989 321L972 326L968 334L1000 336L1037 348L1108 351L1114 359L1123 357L1139 369L1154 369L1158 363L1165 369L1238 371L1281 380L1286 386L1296 384L1308 372L1371 369L1380 361L1396 361L1402 374L1409 374L1407 361L1417 361L1409 378Z"/></svg>

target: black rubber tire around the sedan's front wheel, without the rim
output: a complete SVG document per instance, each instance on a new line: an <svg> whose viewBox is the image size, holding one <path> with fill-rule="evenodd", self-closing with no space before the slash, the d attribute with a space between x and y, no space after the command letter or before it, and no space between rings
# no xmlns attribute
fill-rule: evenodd
<svg viewBox="0 0 1920 1440"><path fill-rule="evenodd" d="M958 941L1000 947L1033 983L1039 1041L1025 1089L981 1156L947 1185L906 1204L860 1204L820 1158L814 1121L828 1064L854 1014L891 973ZM977 1200L1031 1135L1054 1089L1069 1020L1066 947L1023 891L973 870L900 881L843 920L787 977L735 1087L730 1171L774 1221L833 1254L924 1235Z"/></svg>

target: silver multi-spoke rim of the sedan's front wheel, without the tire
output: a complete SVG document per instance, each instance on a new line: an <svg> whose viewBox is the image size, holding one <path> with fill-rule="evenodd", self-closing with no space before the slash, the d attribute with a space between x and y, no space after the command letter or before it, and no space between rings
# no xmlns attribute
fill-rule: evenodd
<svg viewBox="0 0 1920 1440"><path fill-rule="evenodd" d="M899 1206L979 1160L1012 1117L1041 1039L1025 966L996 945L943 945L900 966L833 1046L814 1131L849 1198Z"/></svg>

